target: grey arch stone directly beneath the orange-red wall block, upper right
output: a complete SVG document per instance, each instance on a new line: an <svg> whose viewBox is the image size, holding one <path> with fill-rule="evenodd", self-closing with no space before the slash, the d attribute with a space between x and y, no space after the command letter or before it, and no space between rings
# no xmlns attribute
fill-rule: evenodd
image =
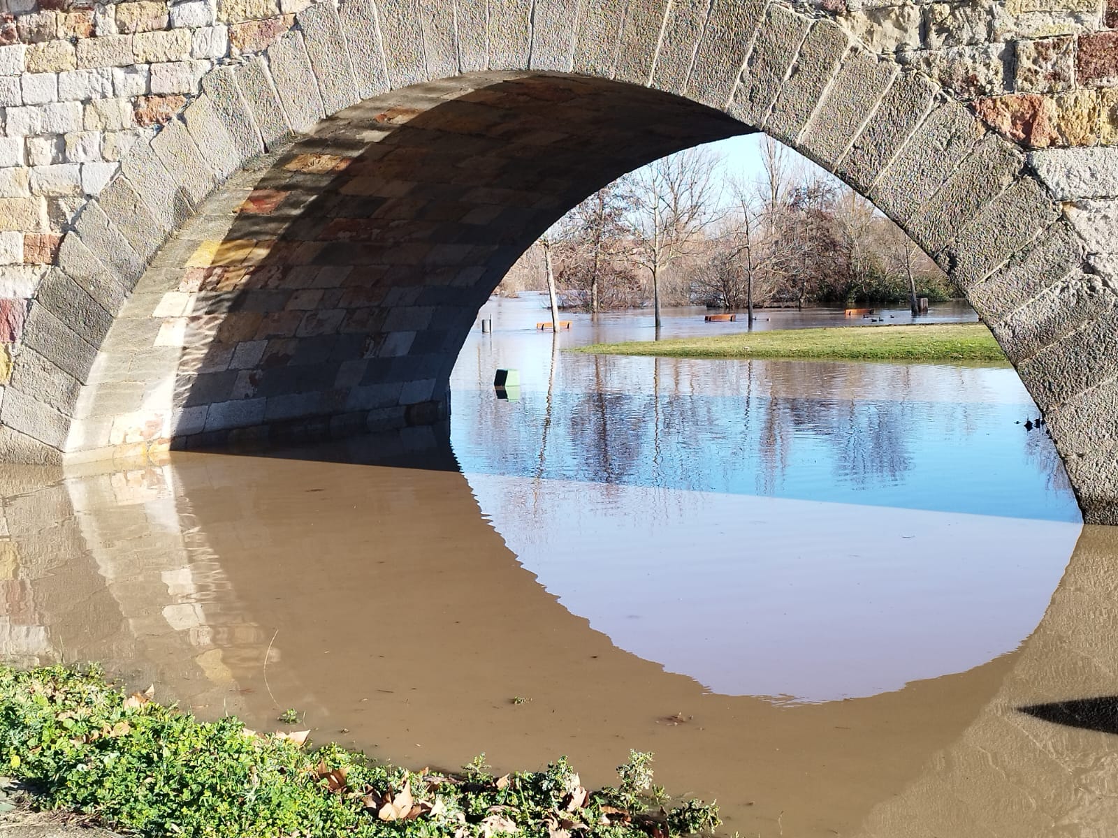
<svg viewBox="0 0 1118 838"><path fill-rule="evenodd" d="M1001 137L987 137L909 220L907 231L935 257L982 207L1016 179L1023 164L1016 146Z"/></svg>

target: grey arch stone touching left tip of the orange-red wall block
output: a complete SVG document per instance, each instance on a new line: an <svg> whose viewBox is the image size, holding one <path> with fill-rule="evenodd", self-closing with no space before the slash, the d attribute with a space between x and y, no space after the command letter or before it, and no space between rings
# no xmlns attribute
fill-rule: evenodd
<svg viewBox="0 0 1118 838"><path fill-rule="evenodd" d="M889 163L870 199L903 226L939 191L980 134L980 125L966 108L955 103L940 105Z"/></svg>

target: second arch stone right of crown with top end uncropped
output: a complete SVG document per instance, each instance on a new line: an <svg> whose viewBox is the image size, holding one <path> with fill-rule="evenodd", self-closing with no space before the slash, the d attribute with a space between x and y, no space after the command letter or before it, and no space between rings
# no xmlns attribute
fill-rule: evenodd
<svg viewBox="0 0 1118 838"><path fill-rule="evenodd" d="M812 25L766 122L769 134L796 144L849 47L850 37L834 22Z"/></svg>

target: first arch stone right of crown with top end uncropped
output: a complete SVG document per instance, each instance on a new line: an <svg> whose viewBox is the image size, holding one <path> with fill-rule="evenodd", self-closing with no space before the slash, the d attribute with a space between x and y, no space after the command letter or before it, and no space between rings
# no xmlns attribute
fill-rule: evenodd
<svg viewBox="0 0 1118 838"><path fill-rule="evenodd" d="M783 6L770 4L746 59L730 114L761 128L776 103L812 21Z"/></svg>

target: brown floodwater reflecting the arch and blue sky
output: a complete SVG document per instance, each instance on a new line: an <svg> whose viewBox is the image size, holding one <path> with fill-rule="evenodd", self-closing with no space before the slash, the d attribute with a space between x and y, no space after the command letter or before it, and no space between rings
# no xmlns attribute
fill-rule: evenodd
<svg viewBox="0 0 1118 838"><path fill-rule="evenodd" d="M743 326L701 315L663 334ZM1112 832L1115 702L1059 703L1116 692L1118 533L1012 369L596 358L561 349L648 314L558 346L534 296L483 316L449 428L0 470L0 651L417 768L653 751L726 835Z"/></svg>

